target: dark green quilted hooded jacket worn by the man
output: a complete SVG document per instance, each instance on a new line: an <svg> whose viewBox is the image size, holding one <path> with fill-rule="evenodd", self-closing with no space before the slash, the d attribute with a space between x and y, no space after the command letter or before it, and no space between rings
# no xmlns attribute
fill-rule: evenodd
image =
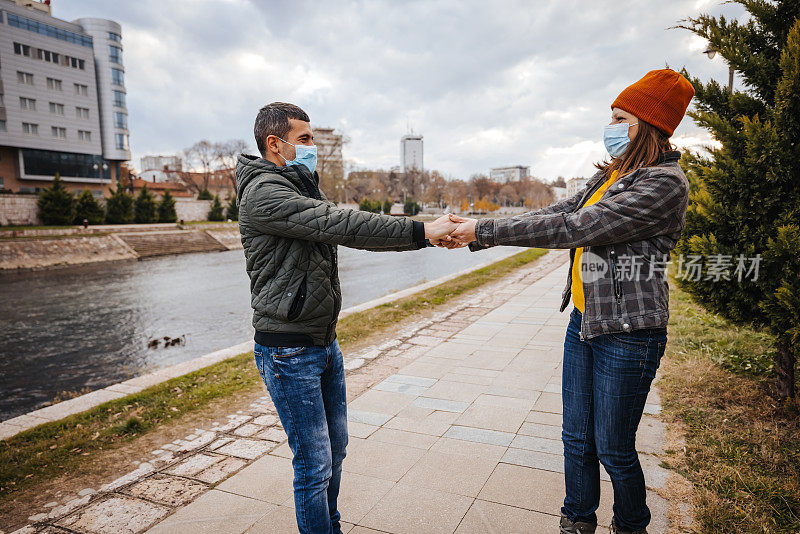
<svg viewBox="0 0 800 534"><path fill-rule="evenodd" d="M342 296L337 245L376 251L426 246L422 223L342 209L303 165L239 155L239 232L250 276L255 341L325 346L336 339Z"/></svg>

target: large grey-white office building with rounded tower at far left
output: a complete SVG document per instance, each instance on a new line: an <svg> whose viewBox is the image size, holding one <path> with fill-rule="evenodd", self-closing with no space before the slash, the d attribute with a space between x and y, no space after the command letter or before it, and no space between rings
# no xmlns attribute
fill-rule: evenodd
<svg viewBox="0 0 800 534"><path fill-rule="evenodd" d="M116 22L0 0L0 188L34 193L58 173L108 195L130 159L124 73Z"/></svg>

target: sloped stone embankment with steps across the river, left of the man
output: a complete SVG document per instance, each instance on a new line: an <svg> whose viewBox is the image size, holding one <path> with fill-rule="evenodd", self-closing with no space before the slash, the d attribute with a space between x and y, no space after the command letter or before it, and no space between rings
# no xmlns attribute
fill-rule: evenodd
<svg viewBox="0 0 800 534"><path fill-rule="evenodd" d="M0 273L242 248L238 223L0 231Z"/></svg>

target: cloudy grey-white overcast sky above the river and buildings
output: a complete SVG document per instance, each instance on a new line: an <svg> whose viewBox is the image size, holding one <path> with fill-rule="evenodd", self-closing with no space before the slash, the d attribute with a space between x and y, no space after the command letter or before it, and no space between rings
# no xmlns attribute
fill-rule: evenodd
<svg viewBox="0 0 800 534"><path fill-rule="evenodd" d="M122 25L133 163L200 139L244 139L273 101L350 138L345 160L399 165L408 125L452 178L505 165L585 176L605 156L610 104L647 71L727 82L719 55L670 29L719 1L53 0L66 20ZM702 145L684 119L673 141Z"/></svg>

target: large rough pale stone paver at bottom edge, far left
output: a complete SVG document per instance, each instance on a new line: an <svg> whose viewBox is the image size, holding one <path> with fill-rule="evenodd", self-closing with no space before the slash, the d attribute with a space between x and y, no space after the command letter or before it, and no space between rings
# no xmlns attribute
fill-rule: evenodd
<svg viewBox="0 0 800 534"><path fill-rule="evenodd" d="M135 534L169 513L166 506L111 495L60 519L56 525L93 534Z"/></svg>

